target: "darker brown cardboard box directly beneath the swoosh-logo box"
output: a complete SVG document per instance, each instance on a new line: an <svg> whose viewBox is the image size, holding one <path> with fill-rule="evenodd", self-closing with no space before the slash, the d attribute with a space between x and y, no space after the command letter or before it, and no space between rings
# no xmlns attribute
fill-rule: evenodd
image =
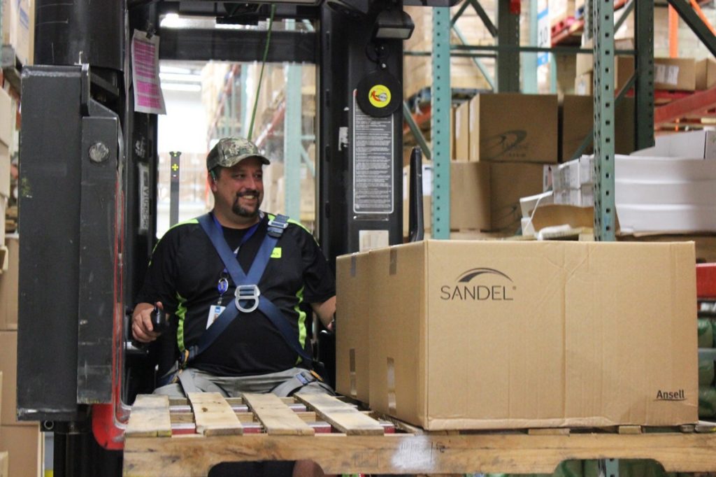
<svg viewBox="0 0 716 477"><path fill-rule="evenodd" d="M543 174L541 164L490 164L490 231L518 231L520 198L542 192Z"/></svg>

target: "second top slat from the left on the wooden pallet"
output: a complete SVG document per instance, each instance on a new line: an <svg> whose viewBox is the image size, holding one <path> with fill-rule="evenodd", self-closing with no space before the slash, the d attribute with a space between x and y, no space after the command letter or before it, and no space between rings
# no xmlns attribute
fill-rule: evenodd
<svg viewBox="0 0 716 477"><path fill-rule="evenodd" d="M189 401L194 410L196 432L203 435L242 434L231 406L218 392L190 392Z"/></svg>

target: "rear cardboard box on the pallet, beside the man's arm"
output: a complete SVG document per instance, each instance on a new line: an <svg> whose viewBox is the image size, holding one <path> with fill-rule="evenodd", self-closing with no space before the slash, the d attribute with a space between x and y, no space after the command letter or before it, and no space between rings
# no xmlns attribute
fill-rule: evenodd
<svg viewBox="0 0 716 477"><path fill-rule="evenodd" d="M336 390L368 403L371 335L368 252L336 259Z"/></svg>

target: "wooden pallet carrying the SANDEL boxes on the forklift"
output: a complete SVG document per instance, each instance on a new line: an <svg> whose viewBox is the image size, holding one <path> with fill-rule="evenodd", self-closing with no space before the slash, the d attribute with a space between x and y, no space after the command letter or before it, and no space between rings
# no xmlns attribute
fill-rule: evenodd
<svg viewBox="0 0 716 477"><path fill-rule="evenodd" d="M326 473L551 473L566 460L653 459L716 472L716 425L427 432L327 395L144 395L125 430L125 476L206 476L221 462L311 459ZM685 433L684 433L685 431Z"/></svg>

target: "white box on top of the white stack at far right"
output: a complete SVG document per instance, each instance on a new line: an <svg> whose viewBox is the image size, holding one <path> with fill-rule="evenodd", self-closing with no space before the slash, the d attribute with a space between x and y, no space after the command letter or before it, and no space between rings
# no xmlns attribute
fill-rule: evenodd
<svg viewBox="0 0 716 477"><path fill-rule="evenodd" d="M716 132L700 130L659 135L653 148L640 149L632 155L716 160Z"/></svg>

